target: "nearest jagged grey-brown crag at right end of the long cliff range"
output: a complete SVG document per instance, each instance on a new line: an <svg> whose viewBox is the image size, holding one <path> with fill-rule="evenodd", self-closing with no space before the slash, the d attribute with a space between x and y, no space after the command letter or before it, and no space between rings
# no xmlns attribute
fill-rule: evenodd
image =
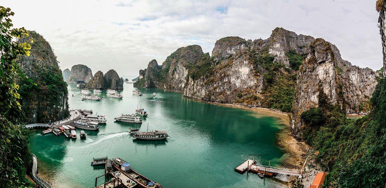
<svg viewBox="0 0 386 188"><path fill-rule="evenodd" d="M346 113L367 112L370 110L369 99L377 84L374 71L361 69L343 60L335 45L316 39L309 50L296 80L290 121L298 138L302 138L304 126L300 115L311 107L318 107L320 92Z"/></svg>

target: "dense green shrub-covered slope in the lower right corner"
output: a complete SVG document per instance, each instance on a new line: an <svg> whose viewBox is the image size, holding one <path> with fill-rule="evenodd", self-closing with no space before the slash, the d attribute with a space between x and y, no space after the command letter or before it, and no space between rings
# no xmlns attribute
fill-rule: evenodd
<svg viewBox="0 0 386 188"><path fill-rule="evenodd" d="M317 160L330 170L325 187L383 187L386 183L386 79L371 98L373 109L356 121L319 94L319 107L301 114L303 138L320 151Z"/></svg>

